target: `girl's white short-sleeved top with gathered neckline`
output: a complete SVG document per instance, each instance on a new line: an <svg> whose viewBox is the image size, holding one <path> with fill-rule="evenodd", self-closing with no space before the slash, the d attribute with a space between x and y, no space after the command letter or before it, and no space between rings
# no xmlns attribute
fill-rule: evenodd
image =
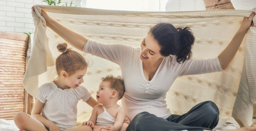
<svg viewBox="0 0 256 131"><path fill-rule="evenodd" d="M66 129L76 124L78 100L87 101L91 93L83 87L60 89L52 81L39 87L36 98L44 103L42 115L59 128Z"/></svg>

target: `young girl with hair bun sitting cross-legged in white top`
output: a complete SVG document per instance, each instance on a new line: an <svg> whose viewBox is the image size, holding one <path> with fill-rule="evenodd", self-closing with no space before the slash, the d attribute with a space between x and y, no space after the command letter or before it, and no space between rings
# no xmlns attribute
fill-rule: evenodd
<svg viewBox="0 0 256 131"><path fill-rule="evenodd" d="M78 52L58 44L61 55L56 59L58 78L43 84L36 96L31 116L18 112L14 116L16 126L27 131L84 131L88 126L75 126L77 103L85 101L91 107L99 104L80 84L87 71L87 62ZM41 115L42 113L42 115Z"/></svg>

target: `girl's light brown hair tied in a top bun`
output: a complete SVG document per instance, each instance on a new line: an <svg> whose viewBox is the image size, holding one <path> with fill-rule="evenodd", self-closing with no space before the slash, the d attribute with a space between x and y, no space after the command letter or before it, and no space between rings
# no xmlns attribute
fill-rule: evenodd
<svg viewBox="0 0 256 131"><path fill-rule="evenodd" d="M67 48L67 44L58 44L57 49L62 52L56 59L56 70L58 76L60 71L64 70L69 75L76 73L76 71L81 69L86 69L88 64L84 57L76 51Z"/></svg>

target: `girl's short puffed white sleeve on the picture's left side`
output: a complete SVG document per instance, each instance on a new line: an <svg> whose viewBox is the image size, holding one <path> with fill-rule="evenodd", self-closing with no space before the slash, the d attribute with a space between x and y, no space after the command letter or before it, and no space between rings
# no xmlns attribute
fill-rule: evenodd
<svg viewBox="0 0 256 131"><path fill-rule="evenodd" d="M45 83L38 88L36 98L40 100L42 103L45 103L48 95L50 94L50 91L51 91L50 84Z"/></svg>

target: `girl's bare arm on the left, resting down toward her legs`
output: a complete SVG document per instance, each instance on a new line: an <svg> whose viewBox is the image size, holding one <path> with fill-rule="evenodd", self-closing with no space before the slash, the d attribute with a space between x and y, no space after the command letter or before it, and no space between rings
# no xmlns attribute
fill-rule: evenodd
<svg viewBox="0 0 256 131"><path fill-rule="evenodd" d="M36 99L34 106L32 108L31 116L40 121L44 124L45 127L47 127L49 130L60 130L58 126L56 126L53 122L45 119L41 115L42 108L44 106L44 103L42 103L40 100Z"/></svg>

